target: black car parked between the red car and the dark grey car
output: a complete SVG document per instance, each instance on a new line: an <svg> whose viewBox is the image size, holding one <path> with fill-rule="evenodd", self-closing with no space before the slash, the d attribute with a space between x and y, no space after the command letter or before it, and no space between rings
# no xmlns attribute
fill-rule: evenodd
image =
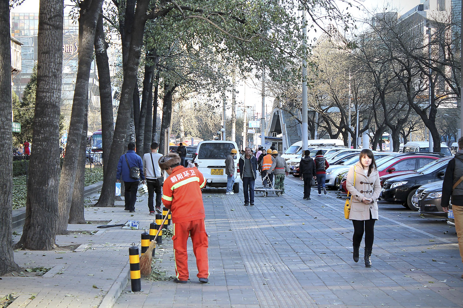
<svg viewBox="0 0 463 308"><path fill-rule="evenodd" d="M417 170L417 173L399 175L384 182L381 190L382 199L388 202L404 203L409 209L417 211L412 197L419 186L444 179L445 169L453 157L444 157L433 161Z"/></svg>

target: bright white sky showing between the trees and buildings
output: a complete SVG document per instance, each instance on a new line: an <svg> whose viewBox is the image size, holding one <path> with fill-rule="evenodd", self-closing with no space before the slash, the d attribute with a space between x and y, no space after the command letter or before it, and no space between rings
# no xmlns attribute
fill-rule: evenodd
<svg viewBox="0 0 463 308"><path fill-rule="evenodd" d="M65 4L69 0L65 0ZM414 6L417 6L419 3L424 0L364 0L361 3L369 12L384 12L384 8L388 8L388 11L392 9L398 9L400 13L405 13L408 10L412 9ZM25 0L20 6L16 6L12 9L12 12L17 13L34 13L38 12L38 3L39 0ZM65 8L66 10L66 8ZM358 9L351 9L351 14L358 19L366 17L364 12L359 12ZM237 85L237 103L238 105L246 106L255 106L257 113L261 113L261 96L259 88L261 87L261 82L259 80L240 80ZM231 93L228 93L229 101L231 102ZM272 106L273 99L266 98L266 109L269 109ZM227 102L227 104L229 104ZM241 113L241 108L237 108L237 115ZM269 110L266 110L269 112ZM231 114L231 111L228 110L228 115Z"/></svg>

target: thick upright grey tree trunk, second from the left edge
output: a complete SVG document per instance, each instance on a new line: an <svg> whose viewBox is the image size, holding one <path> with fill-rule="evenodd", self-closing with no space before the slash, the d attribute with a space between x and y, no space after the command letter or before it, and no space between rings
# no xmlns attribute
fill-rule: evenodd
<svg viewBox="0 0 463 308"><path fill-rule="evenodd" d="M38 23L37 94L32 133L34 146L29 159L23 235L17 247L51 250L56 247L58 220L63 0L40 1Z"/></svg>

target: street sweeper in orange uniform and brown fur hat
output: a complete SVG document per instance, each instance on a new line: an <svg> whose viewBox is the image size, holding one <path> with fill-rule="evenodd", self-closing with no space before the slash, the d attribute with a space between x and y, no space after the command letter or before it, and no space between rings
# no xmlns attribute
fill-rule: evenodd
<svg viewBox="0 0 463 308"><path fill-rule="evenodd" d="M207 234L204 224L204 205L201 188L206 185L197 168L185 168L180 165L180 156L169 153L159 159L159 166L169 177L164 181L162 201L172 212L174 224L174 258L176 283L188 282L187 240L191 236L193 252L196 257L199 281L207 283L209 261L207 259Z"/></svg>

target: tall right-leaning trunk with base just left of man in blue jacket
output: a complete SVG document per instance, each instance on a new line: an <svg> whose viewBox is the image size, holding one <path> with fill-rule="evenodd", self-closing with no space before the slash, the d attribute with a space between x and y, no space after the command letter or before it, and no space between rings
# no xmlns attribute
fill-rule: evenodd
<svg viewBox="0 0 463 308"><path fill-rule="evenodd" d="M131 105L133 102L133 89L136 85L138 64L140 62L141 46L143 44L146 11L149 0L138 0L135 12L134 25L130 43L127 65L124 67L124 81L122 83L116 127L114 129L113 143L107 163L106 175L101 188L100 199L96 206L113 206L116 182L116 169L119 157L126 148L126 136L130 123Z"/></svg>

